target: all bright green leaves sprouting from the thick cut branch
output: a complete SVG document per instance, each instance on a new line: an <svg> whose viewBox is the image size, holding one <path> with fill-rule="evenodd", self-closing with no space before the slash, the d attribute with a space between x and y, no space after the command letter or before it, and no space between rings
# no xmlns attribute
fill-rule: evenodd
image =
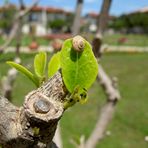
<svg viewBox="0 0 148 148"><path fill-rule="evenodd" d="M77 42L80 39L78 38ZM61 68L63 81L67 90L70 92L70 96L64 101L65 109L74 105L76 102L83 104L87 101L87 89L95 81L98 73L98 64L92 48L85 39L82 38L82 40L84 41L84 48L81 51L73 49L72 39L66 40L61 52L56 53L48 63L48 77L52 77ZM47 55L45 52L40 52L35 56L35 74L31 73L22 65L14 62L7 63L26 75L39 87L46 79L46 62Z"/></svg>

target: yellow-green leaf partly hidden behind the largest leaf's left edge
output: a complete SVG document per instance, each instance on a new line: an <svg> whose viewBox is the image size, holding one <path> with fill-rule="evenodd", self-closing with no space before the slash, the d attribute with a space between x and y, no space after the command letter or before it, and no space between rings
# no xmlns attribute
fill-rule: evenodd
<svg viewBox="0 0 148 148"><path fill-rule="evenodd" d="M52 56L48 63L48 77L52 77L60 67L60 52L58 52Z"/></svg>

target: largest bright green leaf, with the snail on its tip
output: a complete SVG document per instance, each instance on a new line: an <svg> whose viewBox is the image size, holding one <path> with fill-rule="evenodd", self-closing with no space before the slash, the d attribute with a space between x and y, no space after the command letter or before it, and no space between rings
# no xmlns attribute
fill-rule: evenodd
<svg viewBox="0 0 148 148"><path fill-rule="evenodd" d="M72 48L72 39L64 42L61 50L61 68L64 83L70 92L78 85L81 89L88 89L95 81L98 73L98 64L90 44L84 40L82 52Z"/></svg>

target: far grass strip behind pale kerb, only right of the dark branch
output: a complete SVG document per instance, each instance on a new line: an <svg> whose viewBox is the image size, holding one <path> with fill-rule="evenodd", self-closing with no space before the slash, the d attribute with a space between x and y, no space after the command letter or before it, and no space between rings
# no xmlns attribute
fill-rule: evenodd
<svg viewBox="0 0 148 148"><path fill-rule="evenodd" d="M119 43L121 38L126 38L124 43ZM148 46L147 35L136 35L136 34L114 34L105 35L103 42L109 45L126 45L126 46Z"/></svg>

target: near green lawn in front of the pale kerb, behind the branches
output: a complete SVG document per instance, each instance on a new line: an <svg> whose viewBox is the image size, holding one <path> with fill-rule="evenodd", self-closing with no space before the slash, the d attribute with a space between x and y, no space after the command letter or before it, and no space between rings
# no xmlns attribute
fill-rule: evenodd
<svg viewBox="0 0 148 148"><path fill-rule="evenodd" d="M6 60L12 60L13 54L0 55L0 79L9 66ZM32 55L23 54L23 65L31 66ZM110 76L117 76L122 100L117 104L115 116L106 136L97 148L147 148L148 142L148 54L146 53L107 53L101 63ZM18 75L14 85L13 102L21 105L34 85L24 76ZM74 148L70 139L81 135L86 138L92 131L105 95L97 82L89 90L89 101L85 105L72 107L61 119L64 148Z"/></svg>

